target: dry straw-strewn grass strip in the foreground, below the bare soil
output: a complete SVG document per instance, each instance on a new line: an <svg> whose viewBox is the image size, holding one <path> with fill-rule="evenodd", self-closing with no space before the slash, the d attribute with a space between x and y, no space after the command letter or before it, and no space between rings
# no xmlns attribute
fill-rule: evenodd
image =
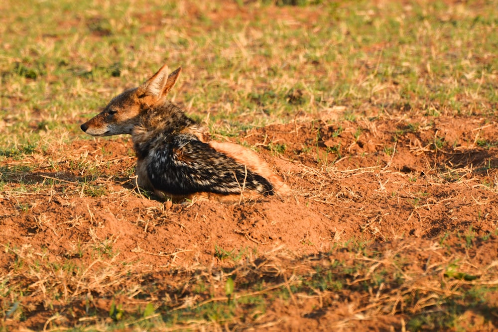
<svg viewBox="0 0 498 332"><path fill-rule="evenodd" d="M331 328L358 328L366 321L381 329L425 330L445 324L450 328L454 320L467 315L461 311L454 317L460 307L492 322L496 318L486 299L492 294L489 289L498 285L497 262L476 266L466 253L448 250L449 243L455 246L461 240L394 241L381 252L338 243L334 250L308 258L278 247L229 269L196 266L160 272L135 271L133 265L117 264L117 256L96 258L85 269L58 266L26 245L5 248L15 255L17 266L1 282L10 285L10 292L15 291L12 287L29 290L32 299L52 310L66 308L46 320L43 328L48 331L88 324L92 329L141 326L168 331L290 327L299 319L279 318L274 308L282 301L287 312L296 310L300 317L331 313L333 318L326 320ZM161 282L150 284L150 280ZM108 312L113 301L120 307ZM154 309L145 312L149 304ZM19 319L22 312L10 309L7 321ZM34 309L23 306L25 311ZM111 318L105 319L107 315ZM124 317L122 323L113 323ZM164 322L166 317L170 323ZM171 326L171 322L177 323Z"/></svg>

